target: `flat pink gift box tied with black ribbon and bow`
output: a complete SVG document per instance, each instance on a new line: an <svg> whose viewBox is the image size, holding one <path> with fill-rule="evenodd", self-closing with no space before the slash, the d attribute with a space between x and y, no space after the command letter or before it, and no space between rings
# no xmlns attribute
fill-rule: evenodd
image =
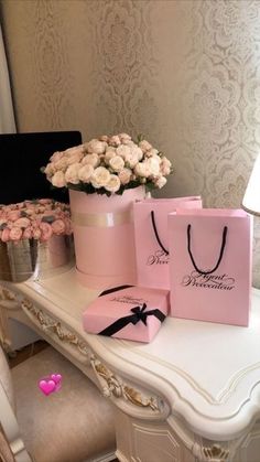
<svg viewBox="0 0 260 462"><path fill-rule="evenodd" d="M169 290L141 287L109 289L84 312L84 330L118 339L151 342L167 315L169 294Z"/></svg>

